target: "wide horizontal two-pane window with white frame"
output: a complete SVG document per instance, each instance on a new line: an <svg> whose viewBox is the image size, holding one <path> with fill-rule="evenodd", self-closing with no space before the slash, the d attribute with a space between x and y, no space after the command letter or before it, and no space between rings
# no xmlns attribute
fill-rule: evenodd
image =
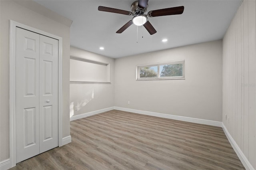
<svg viewBox="0 0 256 170"><path fill-rule="evenodd" d="M184 60L137 65L137 80L185 79Z"/></svg>

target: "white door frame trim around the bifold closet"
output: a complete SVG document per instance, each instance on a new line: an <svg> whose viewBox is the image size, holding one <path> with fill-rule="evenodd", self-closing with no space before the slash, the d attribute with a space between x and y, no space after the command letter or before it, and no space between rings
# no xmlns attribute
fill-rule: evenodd
<svg viewBox="0 0 256 170"><path fill-rule="evenodd" d="M53 34L26 26L10 20L10 166L16 166L16 132L15 132L15 57L16 27L35 32L59 41L58 45L58 140L62 146L62 38Z"/></svg>

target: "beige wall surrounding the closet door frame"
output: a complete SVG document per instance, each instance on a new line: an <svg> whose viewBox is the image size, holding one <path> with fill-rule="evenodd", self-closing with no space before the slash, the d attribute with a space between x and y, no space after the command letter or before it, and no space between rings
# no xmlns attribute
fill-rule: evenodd
<svg viewBox="0 0 256 170"><path fill-rule="evenodd" d="M24 7L26 6L26 7ZM34 1L1 0L0 6L0 34L1 34L1 56L0 56L0 162L10 157L9 147L9 30L10 21L14 20L27 26L31 26L60 36L63 39L63 134L62 137L70 135L69 119L69 55L70 55L70 24L71 20L64 18L50 10L40 6ZM37 12L35 12L37 11ZM39 14L41 13L41 14ZM44 16L45 15L45 16ZM50 19L48 17L54 19ZM57 22L57 21L58 22Z"/></svg>

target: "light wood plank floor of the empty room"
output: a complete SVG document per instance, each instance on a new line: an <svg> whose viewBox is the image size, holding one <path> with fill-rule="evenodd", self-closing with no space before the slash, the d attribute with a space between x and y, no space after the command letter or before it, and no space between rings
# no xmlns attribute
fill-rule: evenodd
<svg viewBox="0 0 256 170"><path fill-rule="evenodd" d="M108 111L70 122L72 143L12 168L242 170L222 128Z"/></svg>

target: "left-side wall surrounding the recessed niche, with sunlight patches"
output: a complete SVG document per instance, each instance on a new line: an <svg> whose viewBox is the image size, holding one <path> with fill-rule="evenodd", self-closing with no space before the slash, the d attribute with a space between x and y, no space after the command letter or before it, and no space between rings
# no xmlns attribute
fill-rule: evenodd
<svg viewBox="0 0 256 170"><path fill-rule="evenodd" d="M114 106L114 59L70 47L70 55L110 63L111 83L70 82L70 115L77 116ZM78 111L75 111L75 106Z"/></svg>

